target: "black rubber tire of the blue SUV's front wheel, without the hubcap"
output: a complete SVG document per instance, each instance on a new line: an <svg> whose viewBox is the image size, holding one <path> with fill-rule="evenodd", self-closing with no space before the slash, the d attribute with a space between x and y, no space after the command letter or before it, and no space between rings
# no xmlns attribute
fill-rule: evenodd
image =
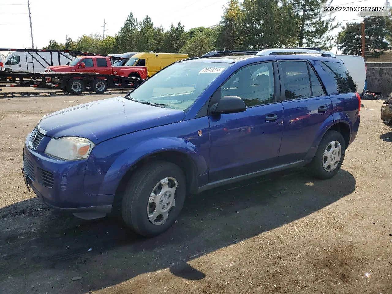
<svg viewBox="0 0 392 294"><path fill-rule="evenodd" d="M161 225L153 224L147 215L149 197L154 187L164 178L172 177L178 182L174 194L175 206ZM150 162L141 167L125 187L121 211L124 222L135 232L145 237L161 234L169 229L184 205L186 180L183 171L171 162Z"/></svg>

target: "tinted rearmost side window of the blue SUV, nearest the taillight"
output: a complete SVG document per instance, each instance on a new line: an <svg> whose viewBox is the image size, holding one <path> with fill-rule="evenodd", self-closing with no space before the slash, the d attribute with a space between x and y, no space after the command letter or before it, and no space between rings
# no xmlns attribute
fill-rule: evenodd
<svg viewBox="0 0 392 294"><path fill-rule="evenodd" d="M323 61L321 67L334 78L338 93L355 92L354 82L343 63Z"/></svg>

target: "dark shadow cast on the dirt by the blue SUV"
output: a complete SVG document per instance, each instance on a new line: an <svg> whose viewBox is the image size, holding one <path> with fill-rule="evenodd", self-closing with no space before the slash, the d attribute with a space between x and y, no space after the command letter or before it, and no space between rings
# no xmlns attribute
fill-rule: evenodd
<svg viewBox="0 0 392 294"><path fill-rule="evenodd" d="M150 239L111 218L80 220L37 198L20 201L0 209L0 292L85 293L167 268L203 279L187 261L303 218L355 186L347 171L321 181L303 168L242 181L189 196L177 223Z"/></svg>

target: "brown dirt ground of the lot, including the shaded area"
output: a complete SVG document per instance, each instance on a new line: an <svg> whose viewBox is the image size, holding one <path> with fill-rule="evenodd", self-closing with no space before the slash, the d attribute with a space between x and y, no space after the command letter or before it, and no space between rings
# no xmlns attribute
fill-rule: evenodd
<svg viewBox="0 0 392 294"><path fill-rule="evenodd" d="M382 102L363 101L334 178L291 169L190 196L169 231L145 239L120 221L43 207L20 173L41 116L111 96L0 99L0 293L392 293Z"/></svg>

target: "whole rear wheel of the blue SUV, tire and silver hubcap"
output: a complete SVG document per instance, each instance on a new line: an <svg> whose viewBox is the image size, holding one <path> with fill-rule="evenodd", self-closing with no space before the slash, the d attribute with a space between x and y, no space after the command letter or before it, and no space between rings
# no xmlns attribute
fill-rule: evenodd
<svg viewBox="0 0 392 294"><path fill-rule="evenodd" d="M307 165L307 171L315 178L326 180L338 173L345 156L346 143L341 133L328 131Z"/></svg>

